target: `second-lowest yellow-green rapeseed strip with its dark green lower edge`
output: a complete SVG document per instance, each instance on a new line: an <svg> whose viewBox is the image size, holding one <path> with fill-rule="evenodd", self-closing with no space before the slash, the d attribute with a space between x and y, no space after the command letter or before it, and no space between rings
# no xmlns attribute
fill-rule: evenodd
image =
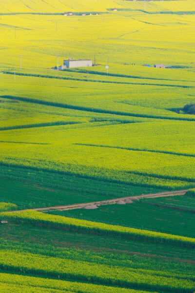
<svg viewBox="0 0 195 293"><path fill-rule="evenodd" d="M0 269L139 290L193 293L194 289L193 280L189 277L184 279L179 275L174 276L175 273L164 276L164 272L158 270L114 267L96 261L88 262L10 250L0 250Z"/></svg>

